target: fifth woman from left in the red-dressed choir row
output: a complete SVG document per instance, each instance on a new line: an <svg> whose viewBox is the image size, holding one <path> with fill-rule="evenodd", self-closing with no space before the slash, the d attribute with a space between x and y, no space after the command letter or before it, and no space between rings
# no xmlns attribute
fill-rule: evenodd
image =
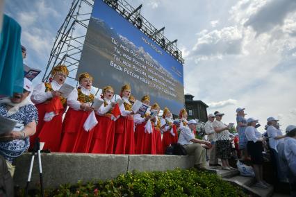
<svg viewBox="0 0 296 197"><path fill-rule="evenodd" d="M150 97L145 95L141 99L145 105L150 104ZM151 128L149 132L145 126L149 122L150 116L146 113L144 116L135 114L133 120L135 122L135 154L156 154L156 142L154 135L154 122L156 119L151 119Z"/></svg>

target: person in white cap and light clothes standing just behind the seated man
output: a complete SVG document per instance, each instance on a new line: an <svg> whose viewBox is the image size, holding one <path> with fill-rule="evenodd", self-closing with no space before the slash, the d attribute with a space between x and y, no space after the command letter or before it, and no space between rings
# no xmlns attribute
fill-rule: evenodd
<svg viewBox="0 0 296 197"><path fill-rule="evenodd" d="M212 144L212 148L209 149L210 155L210 166L221 166L218 164L218 158L216 157L216 148L215 148L215 130L213 127L213 121L215 120L214 114L208 114L208 121L204 125L204 130L208 135L208 141Z"/></svg>

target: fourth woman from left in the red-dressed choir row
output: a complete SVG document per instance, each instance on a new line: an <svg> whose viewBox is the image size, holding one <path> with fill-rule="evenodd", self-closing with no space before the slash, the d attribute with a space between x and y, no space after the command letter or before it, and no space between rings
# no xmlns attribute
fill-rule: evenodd
<svg viewBox="0 0 296 197"><path fill-rule="evenodd" d="M121 116L115 122L115 154L134 154L135 153L135 135L133 128L133 111L132 104L129 101L131 96L131 87L129 85L122 86L120 96L124 103L120 106Z"/></svg>

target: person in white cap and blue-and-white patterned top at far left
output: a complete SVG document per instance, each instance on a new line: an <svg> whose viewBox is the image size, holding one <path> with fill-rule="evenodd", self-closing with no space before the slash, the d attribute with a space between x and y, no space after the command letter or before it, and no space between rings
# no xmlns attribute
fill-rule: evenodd
<svg viewBox="0 0 296 197"><path fill-rule="evenodd" d="M32 90L31 81L24 78L22 94L14 93L12 97L0 101L0 116L18 123L17 128L0 135L0 155L6 159L11 175L15 169L13 160L28 149L28 137L35 133L38 123L37 109L28 98Z"/></svg>

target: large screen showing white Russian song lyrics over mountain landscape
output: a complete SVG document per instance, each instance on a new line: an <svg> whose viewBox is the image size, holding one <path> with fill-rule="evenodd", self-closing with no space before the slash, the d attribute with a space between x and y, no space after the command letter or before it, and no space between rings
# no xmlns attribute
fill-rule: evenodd
<svg viewBox="0 0 296 197"><path fill-rule="evenodd" d="M138 100L149 94L151 105L174 114L184 106L183 65L102 0L94 1L76 78L85 71L95 87L120 94L129 84Z"/></svg>

